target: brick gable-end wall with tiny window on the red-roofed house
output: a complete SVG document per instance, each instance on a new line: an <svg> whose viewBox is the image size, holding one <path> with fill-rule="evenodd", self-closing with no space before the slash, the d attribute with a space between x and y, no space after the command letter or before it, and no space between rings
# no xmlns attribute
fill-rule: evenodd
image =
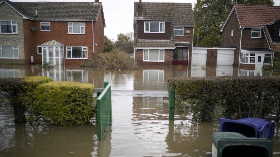
<svg viewBox="0 0 280 157"><path fill-rule="evenodd" d="M234 30L233 36L231 36L232 30ZM240 33L240 25L238 22L236 12L234 11L228 23L225 25L225 28L223 29L222 47L239 47Z"/></svg>

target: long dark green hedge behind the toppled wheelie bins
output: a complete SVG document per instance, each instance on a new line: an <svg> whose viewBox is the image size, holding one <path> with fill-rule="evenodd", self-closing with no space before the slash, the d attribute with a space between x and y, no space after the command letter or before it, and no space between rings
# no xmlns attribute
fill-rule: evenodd
<svg viewBox="0 0 280 157"><path fill-rule="evenodd" d="M232 119L263 118L273 111L279 118L280 77L172 78L168 88L172 86L176 111L186 107L203 121L211 121L215 109Z"/></svg>

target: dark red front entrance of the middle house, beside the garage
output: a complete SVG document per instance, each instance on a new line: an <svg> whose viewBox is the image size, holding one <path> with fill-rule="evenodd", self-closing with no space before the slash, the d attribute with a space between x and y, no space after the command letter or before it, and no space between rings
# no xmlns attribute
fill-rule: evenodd
<svg viewBox="0 0 280 157"><path fill-rule="evenodd" d="M188 65L188 48L176 48L173 51L173 65Z"/></svg>

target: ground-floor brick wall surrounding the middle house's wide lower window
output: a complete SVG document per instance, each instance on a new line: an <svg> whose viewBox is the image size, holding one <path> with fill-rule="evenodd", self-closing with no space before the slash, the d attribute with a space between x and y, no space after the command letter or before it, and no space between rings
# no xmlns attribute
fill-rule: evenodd
<svg viewBox="0 0 280 157"><path fill-rule="evenodd" d="M172 65L173 50L165 49L164 62L143 61L143 49L135 51L135 61L137 65Z"/></svg>

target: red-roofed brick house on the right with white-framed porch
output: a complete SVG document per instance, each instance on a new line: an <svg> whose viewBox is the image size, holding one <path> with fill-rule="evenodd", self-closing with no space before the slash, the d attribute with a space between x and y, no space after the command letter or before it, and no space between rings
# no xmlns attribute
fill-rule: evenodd
<svg viewBox="0 0 280 157"><path fill-rule="evenodd" d="M222 46L236 47L234 65L261 69L280 50L280 6L234 5L223 24Z"/></svg>

